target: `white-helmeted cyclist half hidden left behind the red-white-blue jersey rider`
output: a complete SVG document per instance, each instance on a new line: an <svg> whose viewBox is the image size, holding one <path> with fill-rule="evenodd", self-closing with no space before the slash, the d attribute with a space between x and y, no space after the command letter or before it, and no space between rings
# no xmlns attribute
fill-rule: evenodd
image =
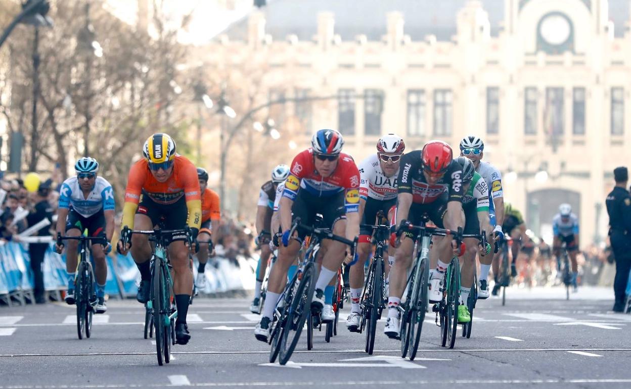
<svg viewBox="0 0 631 389"><path fill-rule="evenodd" d="M278 165L272 170L272 179L264 183L259 192L259 202L256 210L256 245L261 247L261 257L256 267L256 284L254 285L254 300L250 306L252 313L261 313L261 285L268 267L269 256L272 253L269 247L271 239L271 219L274 211L274 201L276 200L276 189L278 184L285 181L289 175L289 166Z"/></svg>

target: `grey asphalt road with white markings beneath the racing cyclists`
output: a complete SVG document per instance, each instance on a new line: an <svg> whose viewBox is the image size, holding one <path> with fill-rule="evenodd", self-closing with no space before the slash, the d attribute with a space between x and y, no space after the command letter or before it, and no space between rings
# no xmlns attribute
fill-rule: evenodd
<svg viewBox="0 0 631 389"><path fill-rule="evenodd" d="M383 322L371 357L363 352L364 335L347 332L341 320L331 343L316 333L313 351L303 334L287 366L268 364L268 345L254 339L258 316L249 313L248 299L196 299L191 342L175 345L162 367L155 345L143 339L144 311L135 301L110 300L84 340L77 339L73 306L2 307L0 389L631 387L631 315L609 311L613 292L584 288L570 301L561 298L560 288L510 288L506 306L480 301L471 339L459 337L453 350L440 347L439 327L427 316L415 361L401 359L399 342L382 334Z"/></svg>

